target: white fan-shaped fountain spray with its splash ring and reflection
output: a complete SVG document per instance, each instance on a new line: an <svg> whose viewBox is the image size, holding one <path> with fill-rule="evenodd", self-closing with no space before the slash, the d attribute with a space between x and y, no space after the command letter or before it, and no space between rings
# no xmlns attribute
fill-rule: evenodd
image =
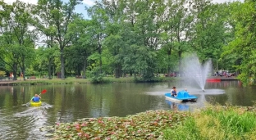
<svg viewBox="0 0 256 140"><path fill-rule="evenodd" d="M181 70L181 77L184 80L182 80L181 84L179 85L182 89L180 88L178 91L188 89L188 92L191 95L199 95L199 98L197 102L169 103L170 101L167 101L168 104L180 106L178 107L180 111L194 110L194 108L205 106L205 102L207 102L205 95L217 95L225 93L225 91L222 89L205 88L208 76L213 74L211 60L201 63L198 56L191 55L182 60L182 66L183 69Z"/></svg>

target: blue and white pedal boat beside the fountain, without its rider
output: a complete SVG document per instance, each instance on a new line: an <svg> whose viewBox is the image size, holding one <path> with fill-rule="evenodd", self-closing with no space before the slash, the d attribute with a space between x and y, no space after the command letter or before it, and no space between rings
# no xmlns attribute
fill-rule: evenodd
<svg viewBox="0 0 256 140"><path fill-rule="evenodd" d="M171 102L196 102L196 100L198 99L198 97L190 95L185 90L182 90L179 93L177 93L176 97L171 97L171 93L165 93L165 97L167 100Z"/></svg>

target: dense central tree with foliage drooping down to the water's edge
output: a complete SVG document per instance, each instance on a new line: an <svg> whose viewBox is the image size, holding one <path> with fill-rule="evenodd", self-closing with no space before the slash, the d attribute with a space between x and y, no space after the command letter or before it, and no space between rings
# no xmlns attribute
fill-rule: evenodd
<svg viewBox="0 0 256 140"><path fill-rule="evenodd" d="M134 68L135 75L139 73L144 80L152 80L157 62L158 29L154 22L154 10L159 6L158 2L139 0L126 3L124 30L129 29L130 33L124 36L127 46L123 50L126 53L125 68Z"/></svg>

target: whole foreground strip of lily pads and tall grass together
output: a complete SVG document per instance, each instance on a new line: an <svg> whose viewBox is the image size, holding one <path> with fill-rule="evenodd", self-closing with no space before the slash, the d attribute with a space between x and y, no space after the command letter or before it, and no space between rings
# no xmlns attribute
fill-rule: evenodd
<svg viewBox="0 0 256 140"><path fill-rule="evenodd" d="M126 117L82 119L44 127L52 139L256 139L254 107L146 111Z"/></svg>

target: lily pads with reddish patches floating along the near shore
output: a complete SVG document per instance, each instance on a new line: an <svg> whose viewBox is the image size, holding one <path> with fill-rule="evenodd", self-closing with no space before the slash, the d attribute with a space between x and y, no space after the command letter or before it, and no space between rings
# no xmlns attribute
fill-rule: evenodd
<svg viewBox="0 0 256 140"><path fill-rule="evenodd" d="M53 139L164 139L190 115L183 111L145 111L126 117L85 118L42 128Z"/></svg>

